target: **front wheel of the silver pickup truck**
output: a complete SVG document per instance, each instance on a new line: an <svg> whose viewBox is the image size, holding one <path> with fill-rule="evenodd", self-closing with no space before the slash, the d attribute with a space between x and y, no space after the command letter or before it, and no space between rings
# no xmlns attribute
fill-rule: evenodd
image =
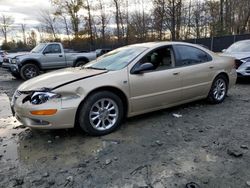
<svg viewBox="0 0 250 188"><path fill-rule="evenodd" d="M39 75L39 68L34 64L26 64L22 66L20 70L20 75L23 80L28 80Z"/></svg>

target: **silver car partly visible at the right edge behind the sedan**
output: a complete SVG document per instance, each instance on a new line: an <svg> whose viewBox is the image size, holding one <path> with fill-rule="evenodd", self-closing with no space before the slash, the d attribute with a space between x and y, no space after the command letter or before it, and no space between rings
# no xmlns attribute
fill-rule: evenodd
<svg viewBox="0 0 250 188"><path fill-rule="evenodd" d="M242 40L222 51L223 55L235 57L238 77L250 76L250 40Z"/></svg>

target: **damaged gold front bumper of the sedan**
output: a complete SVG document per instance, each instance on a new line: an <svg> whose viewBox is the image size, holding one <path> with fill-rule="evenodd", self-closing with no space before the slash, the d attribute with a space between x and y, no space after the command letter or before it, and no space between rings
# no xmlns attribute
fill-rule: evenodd
<svg viewBox="0 0 250 188"><path fill-rule="evenodd" d="M39 129L74 127L76 108L62 108L61 99L52 99L44 104L33 105L29 101L25 101L27 96L28 94L16 91L11 101L13 115L24 126ZM45 109L56 109L56 113L53 115L34 115L33 113Z"/></svg>

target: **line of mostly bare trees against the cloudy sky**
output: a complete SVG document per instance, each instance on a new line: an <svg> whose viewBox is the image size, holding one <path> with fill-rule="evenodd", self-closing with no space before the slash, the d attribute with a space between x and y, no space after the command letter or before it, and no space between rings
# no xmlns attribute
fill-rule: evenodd
<svg viewBox="0 0 250 188"><path fill-rule="evenodd" d="M24 45L36 38L66 46L95 49L137 42L186 40L250 32L249 0L50 0L40 24ZM13 18L2 15L0 28L7 43ZM39 35L39 36L37 36ZM28 41L27 41L28 39Z"/></svg>

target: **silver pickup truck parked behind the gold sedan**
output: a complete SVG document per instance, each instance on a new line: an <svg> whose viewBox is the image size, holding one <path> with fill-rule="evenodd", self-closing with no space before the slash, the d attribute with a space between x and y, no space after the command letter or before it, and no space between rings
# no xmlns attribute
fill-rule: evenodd
<svg viewBox="0 0 250 188"><path fill-rule="evenodd" d="M9 58L11 74L24 80L38 76L41 71L79 67L96 59L95 52L70 53L61 43L40 43L31 52Z"/></svg>

